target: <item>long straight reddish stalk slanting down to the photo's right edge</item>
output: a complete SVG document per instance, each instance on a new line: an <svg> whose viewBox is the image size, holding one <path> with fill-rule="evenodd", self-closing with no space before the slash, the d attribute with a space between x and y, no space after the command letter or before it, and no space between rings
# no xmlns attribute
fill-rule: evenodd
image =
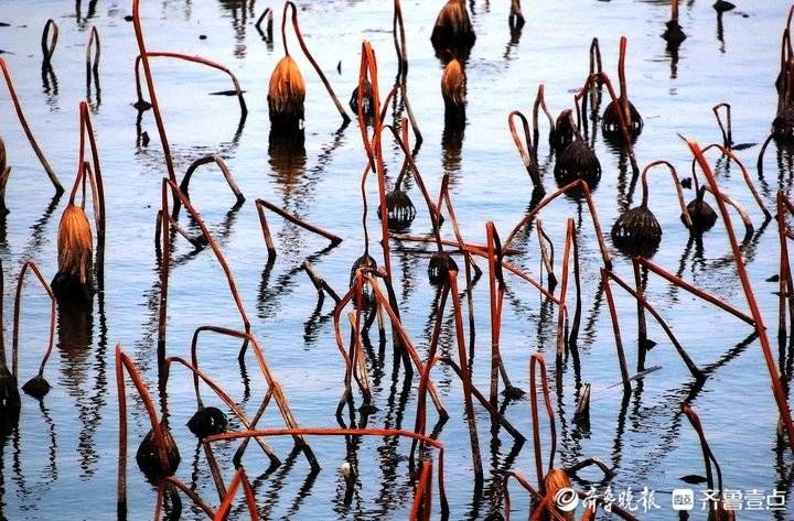
<svg viewBox="0 0 794 521"><path fill-rule="evenodd" d="M697 158L698 164L700 165L700 169L706 175L706 178L715 191L717 205L719 206L720 214L722 215L722 220L725 221L726 229L728 231L728 239L730 241L731 250L733 252L733 259L736 260L737 271L739 273L739 279L742 284L742 290L744 291L744 296L748 300L750 313L755 321L755 330L758 332L759 340L761 343L761 349L764 355L764 360L766 361L766 369L769 370L770 379L772 380L773 394L777 403L777 409L780 410L781 417L783 419L783 424L785 426L788 444L792 451L794 451L794 423L792 423L791 411L788 410L788 401L786 400L785 389L777 372L774 356L772 355L772 347L770 346L769 337L766 335L766 327L763 323L763 315L761 314L761 310L759 310L758 303L755 302L755 295L752 290L752 284L750 283L750 278L748 276L744 262L742 262L741 250L739 249L739 242L737 241L736 231L733 230L733 226L731 225L728 208L722 200L721 192L717 184L717 178L711 172L711 167L709 166L708 161L706 161L706 158L700 151L700 146L695 141L688 141L688 144L693 154L695 154L695 158Z"/></svg>

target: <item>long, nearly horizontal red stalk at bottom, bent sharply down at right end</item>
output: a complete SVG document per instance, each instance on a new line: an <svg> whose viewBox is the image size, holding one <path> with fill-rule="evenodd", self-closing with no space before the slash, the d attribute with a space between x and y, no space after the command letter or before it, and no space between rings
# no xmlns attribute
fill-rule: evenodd
<svg viewBox="0 0 794 521"><path fill-rule="evenodd" d="M337 428L337 427L305 427L305 428L260 428L256 431L230 432L217 434L206 438L207 444L232 439L240 439L255 436L399 436L409 439L418 439L438 451L438 486L441 500L442 515L449 514L449 503L443 479L444 448L441 442L428 436L417 434L412 431L397 428Z"/></svg>

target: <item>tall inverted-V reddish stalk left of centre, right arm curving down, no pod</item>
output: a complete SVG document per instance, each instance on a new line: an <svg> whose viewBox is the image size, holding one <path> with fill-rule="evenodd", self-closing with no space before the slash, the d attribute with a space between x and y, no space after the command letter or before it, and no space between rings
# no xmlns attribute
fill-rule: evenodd
<svg viewBox="0 0 794 521"><path fill-rule="evenodd" d="M224 271L224 274L226 275L226 282L229 286L229 292L232 293L232 297L235 301L235 305L237 306L237 311L240 314L240 318L243 319L243 325L245 327L246 333L250 332L250 322L248 321L248 315L245 311L245 306L243 305L243 299L239 295L239 291L237 290L237 283L235 282L234 275L232 274L232 269L228 265L228 262L226 261L226 258L223 254L223 251L221 251L221 248L215 242L215 239L212 237L212 234L210 234L210 230L207 229L206 225L202 220L198 213L193 208L193 205L191 204L190 199L185 197L185 195L182 193L182 191L179 189L176 186L176 183L172 182L171 180L163 178L162 182L162 191L161 191L161 199L162 199L162 216L161 216L161 227L162 227L162 265L160 267L160 316L159 316L159 323L158 323L158 360L162 362L165 358L165 326L168 322L168 284L169 284L169 272L170 272L170 250L171 250L171 238L170 238L170 220L169 220L169 208L168 208L168 188L171 188L171 193L174 194L175 198L179 198L182 204L184 205L185 209L190 214L193 221L198 225L198 228L202 230L202 235L204 236L204 239L206 240L207 245L210 245L210 248L212 248L213 253L215 254L215 258L217 259L218 263L221 264L221 269ZM247 343L243 344L243 347L240 349L239 358L242 359L245 355L245 349L247 347Z"/></svg>

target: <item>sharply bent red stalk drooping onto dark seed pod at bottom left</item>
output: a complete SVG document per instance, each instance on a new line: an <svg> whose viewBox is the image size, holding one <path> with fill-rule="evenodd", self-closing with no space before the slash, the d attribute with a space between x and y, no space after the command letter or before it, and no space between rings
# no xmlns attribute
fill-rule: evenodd
<svg viewBox="0 0 794 521"><path fill-rule="evenodd" d="M163 433L164 426L158 421L157 412L154 410L154 403L149 394L149 389L143 379L141 378L138 369L136 368L132 360L121 350L121 344L116 345L116 386L118 390L119 401L119 455L118 455L118 489L117 489L117 509L119 515L124 512L125 517L127 513L127 395L125 390L124 372L127 370L127 375L132 384L135 386L138 397L146 406L147 414L149 415L149 423L151 424L152 433L154 436L154 444L158 451L158 457L162 468L170 468L172 462L170 460L169 451L165 447L165 434Z"/></svg>

